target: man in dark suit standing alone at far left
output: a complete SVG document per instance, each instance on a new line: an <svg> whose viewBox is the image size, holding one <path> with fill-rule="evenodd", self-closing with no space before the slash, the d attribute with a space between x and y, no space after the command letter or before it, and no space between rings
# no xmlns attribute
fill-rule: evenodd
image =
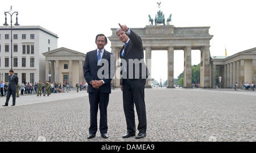
<svg viewBox="0 0 256 153"><path fill-rule="evenodd" d="M11 95L13 95L13 105L11 105L11 106L15 106L16 86L17 86L17 84L19 82L19 78L18 78L18 76L14 75L14 71L13 70L10 70L9 73L10 73L10 75L8 76L9 87L8 87L6 102L5 102L5 105L3 105L4 107L8 106L9 99L10 99Z"/></svg>

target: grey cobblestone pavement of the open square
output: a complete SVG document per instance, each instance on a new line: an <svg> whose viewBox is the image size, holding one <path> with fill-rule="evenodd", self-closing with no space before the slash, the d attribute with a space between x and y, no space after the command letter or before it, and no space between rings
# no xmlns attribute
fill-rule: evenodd
<svg viewBox="0 0 256 153"><path fill-rule="evenodd" d="M108 139L99 131L95 138L86 138L90 122L86 94L1 108L0 141L256 141L256 92L243 93L147 89L147 137L139 140L122 138L126 123L119 90L110 94Z"/></svg>

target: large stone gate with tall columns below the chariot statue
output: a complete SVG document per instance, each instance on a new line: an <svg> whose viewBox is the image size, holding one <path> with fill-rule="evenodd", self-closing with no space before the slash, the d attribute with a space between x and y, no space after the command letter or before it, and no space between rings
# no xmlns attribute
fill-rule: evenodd
<svg viewBox="0 0 256 153"><path fill-rule="evenodd" d="M146 65L151 71L151 52L152 50L168 50L168 81L167 87L174 87L174 50L183 50L184 52L184 87L192 87L192 68L191 68L191 50L201 51L201 70L200 86L209 88L211 67L210 67L210 27L174 27L174 25L147 25L144 28L131 28L137 33L143 43L145 50ZM112 28L112 36L108 37L111 41L112 53L119 59L119 51L123 44L119 41L115 31ZM119 78L119 66L116 67L115 78ZM115 86L119 86L119 79L113 79ZM151 76L148 77L146 87L151 86Z"/></svg>

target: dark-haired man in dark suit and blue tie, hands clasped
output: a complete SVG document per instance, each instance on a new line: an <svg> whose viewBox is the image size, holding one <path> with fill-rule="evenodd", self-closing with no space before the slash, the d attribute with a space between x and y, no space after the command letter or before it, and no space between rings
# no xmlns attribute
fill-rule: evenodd
<svg viewBox="0 0 256 153"><path fill-rule="evenodd" d="M111 93L111 80L114 76L115 58L114 55L104 49L108 43L106 36L96 36L97 49L86 53L84 62L84 78L88 82L90 102L90 128L88 139L96 136L97 112L100 107L100 132L102 138L108 138L107 107L109 94ZM111 58L111 60L110 60ZM100 76L100 70L104 67L104 76Z"/></svg>

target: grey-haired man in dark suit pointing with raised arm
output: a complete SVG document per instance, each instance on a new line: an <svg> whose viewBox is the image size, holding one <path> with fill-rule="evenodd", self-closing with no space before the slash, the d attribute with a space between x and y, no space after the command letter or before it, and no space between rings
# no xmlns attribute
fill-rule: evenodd
<svg viewBox="0 0 256 153"><path fill-rule="evenodd" d="M144 101L144 86L149 72L144 63L144 52L141 37L127 28L126 25L119 24L120 28L116 33L118 39L125 45L120 50L119 56L127 64L122 65L121 69L121 90L123 91L123 109L125 111L127 133L123 138L135 136L135 116L134 104L138 114L138 130L139 133L136 139L146 137L147 119L146 119L146 105ZM133 61L141 61L131 63ZM122 63L122 62L121 62ZM139 69L137 71L136 69Z"/></svg>

